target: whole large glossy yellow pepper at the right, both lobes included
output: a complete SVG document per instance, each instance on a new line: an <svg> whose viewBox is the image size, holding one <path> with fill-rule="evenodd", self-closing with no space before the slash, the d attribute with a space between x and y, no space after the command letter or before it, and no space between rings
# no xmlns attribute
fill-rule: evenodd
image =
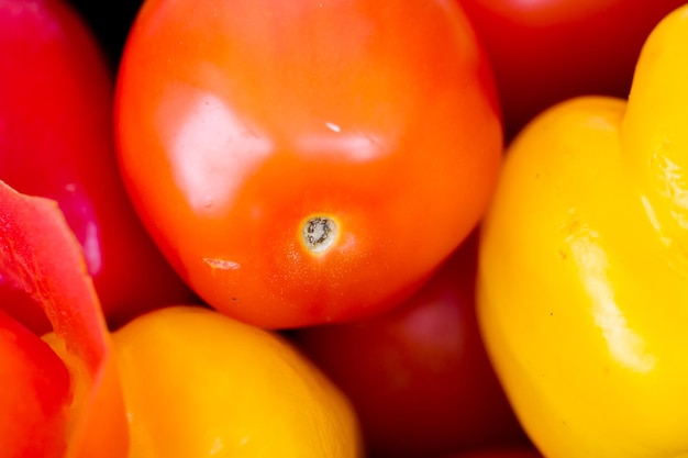
<svg viewBox="0 0 688 458"><path fill-rule="evenodd" d="M688 457L688 5L626 100L574 99L507 152L478 312L548 458Z"/></svg>

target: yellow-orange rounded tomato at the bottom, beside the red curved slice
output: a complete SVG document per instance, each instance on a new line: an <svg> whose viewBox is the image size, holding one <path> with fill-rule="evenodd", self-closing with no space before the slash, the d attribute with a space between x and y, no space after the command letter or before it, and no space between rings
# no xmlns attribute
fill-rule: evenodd
<svg viewBox="0 0 688 458"><path fill-rule="evenodd" d="M348 401L277 334L171 306L113 339L130 458L363 455Z"/></svg>

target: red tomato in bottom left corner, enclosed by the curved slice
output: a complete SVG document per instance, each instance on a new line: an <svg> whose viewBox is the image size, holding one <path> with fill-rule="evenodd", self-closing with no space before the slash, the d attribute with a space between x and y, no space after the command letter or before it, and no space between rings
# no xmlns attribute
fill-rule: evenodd
<svg viewBox="0 0 688 458"><path fill-rule="evenodd" d="M0 457L64 457L69 372L45 342L2 309L0 361Z"/></svg>

